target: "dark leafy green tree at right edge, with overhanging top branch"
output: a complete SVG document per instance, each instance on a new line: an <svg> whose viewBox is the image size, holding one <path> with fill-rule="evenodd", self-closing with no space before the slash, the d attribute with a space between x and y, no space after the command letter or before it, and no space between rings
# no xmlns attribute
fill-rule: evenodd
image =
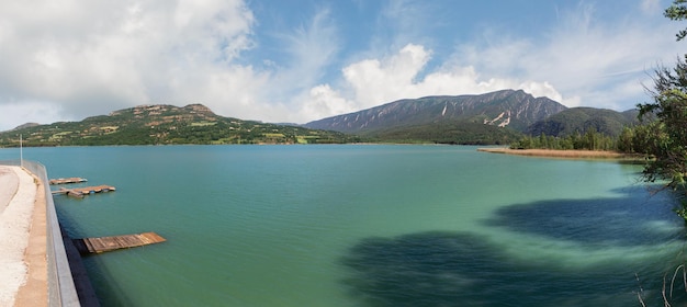
<svg viewBox="0 0 687 307"><path fill-rule="evenodd" d="M665 10L671 20L687 19L687 0L675 0ZM677 41L687 36L687 30L677 33ZM687 59L687 55L685 55ZM649 182L666 180L667 186L684 187L687 179L687 61L677 59L675 68L655 70L652 103L639 104L640 116L655 117L644 132L652 144L645 154L654 157L644 169Z"/></svg>

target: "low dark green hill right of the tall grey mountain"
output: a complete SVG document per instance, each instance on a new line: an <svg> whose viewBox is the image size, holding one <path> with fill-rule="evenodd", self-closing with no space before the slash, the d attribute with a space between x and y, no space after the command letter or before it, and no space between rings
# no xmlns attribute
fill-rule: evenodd
<svg viewBox="0 0 687 307"><path fill-rule="evenodd" d="M526 129L529 135L568 136L592 129L609 136L618 136L624 126L639 123L639 111L617 112L606 109L572 107L537 122Z"/></svg>

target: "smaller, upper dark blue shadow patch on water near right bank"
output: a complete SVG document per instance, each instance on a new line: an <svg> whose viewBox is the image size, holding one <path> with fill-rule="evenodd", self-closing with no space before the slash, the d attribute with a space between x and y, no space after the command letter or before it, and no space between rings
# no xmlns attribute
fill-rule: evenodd
<svg viewBox="0 0 687 307"><path fill-rule="evenodd" d="M554 200L498 209L488 226L576 241L593 247L649 246L684 237L680 218L667 193L651 198L643 189L628 197ZM663 227L662 227L663 226Z"/></svg>

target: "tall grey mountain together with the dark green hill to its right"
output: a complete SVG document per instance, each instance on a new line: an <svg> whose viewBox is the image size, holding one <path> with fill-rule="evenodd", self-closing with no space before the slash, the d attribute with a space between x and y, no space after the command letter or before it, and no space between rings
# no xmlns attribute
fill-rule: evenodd
<svg viewBox="0 0 687 307"><path fill-rule="evenodd" d="M358 134L386 141L508 144L522 134L566 136L594 129L617 136L637 124L635 110L572 107L521 90L478 95L404 99L327 117L306 127Z"/></svg>

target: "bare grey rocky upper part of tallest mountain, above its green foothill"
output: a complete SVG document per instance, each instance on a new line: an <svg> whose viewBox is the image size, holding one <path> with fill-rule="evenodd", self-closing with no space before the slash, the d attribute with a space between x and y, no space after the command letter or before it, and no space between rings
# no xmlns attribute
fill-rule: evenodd
<svg viewBox="0 0 687 307"><path fill-rule="evenodd" d="M371 133L418 125L478 123L521 132L565 109L548 98L534 98L521 90L503 90L481 95L405 99L311 122L305 126L344 133Z"/></svg>

